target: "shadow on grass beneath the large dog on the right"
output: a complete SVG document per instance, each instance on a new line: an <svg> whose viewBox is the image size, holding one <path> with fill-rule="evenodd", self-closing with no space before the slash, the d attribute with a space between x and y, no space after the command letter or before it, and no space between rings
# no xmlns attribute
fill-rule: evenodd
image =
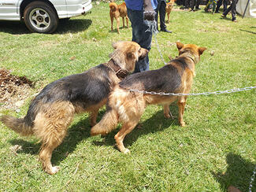
<svg viewBox="0 0 256 192"><path fill-rule="evenodd" d="M136 142L136 140L141 135L147 135L150 133L163 131L171 125L179 125L179 121L177 119L178 107L175 104L170 105L170 111L172 112L173 116L175 116L174 119L165 119L163 110L160 110L157 113L154 113L154 115L151 116L149 119L140 122L139 126L137 125L135 129L132 130L132 132L126 135L126 137L124 138L124 146L132 146L132 144ZM94 144L96 146L115 146L116 142L114 139L114 135L116 135L117 132L120 131L120 127L121 126L118 126L117 129L106 135L104 137L105 139L102 142L95 141Z"/></svg>

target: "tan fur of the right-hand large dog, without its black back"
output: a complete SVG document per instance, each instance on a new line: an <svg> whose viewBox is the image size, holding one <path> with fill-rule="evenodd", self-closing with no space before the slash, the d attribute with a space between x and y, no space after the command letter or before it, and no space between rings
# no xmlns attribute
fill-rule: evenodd
<svg viewBox="0 0 256 192"><path fill-rule="evenodd" d="M181 84L180 87L176 89L176 92L187 94L191 90L191 85L193 83L195 64L199 61L200 54L202 54L206 48L191 44L184 45L181 42L176 42L176 46L179 50L180 58L182 57L182 59L186 61L188 67L181 73L182 68L180 65L177 65L175 61L169 62L169 65L173 65L177 68L181 75ZM137 81L132 87L143 90L143 83ZM160 96L130 92L117 85L109 95L109 110L103 116L102 120L96 124L95 127L91 128L91 135L106 135L121 122L121 130L115 135L115 140L117 147L121 152L129 153L129 150L124 147L124 137L133 130L136 124L138 124L147 105L163 105L164 116L170 118L169 105L172 102L177 101L180 126L185 126L183 116L186 99L187 96Z"/></svg>

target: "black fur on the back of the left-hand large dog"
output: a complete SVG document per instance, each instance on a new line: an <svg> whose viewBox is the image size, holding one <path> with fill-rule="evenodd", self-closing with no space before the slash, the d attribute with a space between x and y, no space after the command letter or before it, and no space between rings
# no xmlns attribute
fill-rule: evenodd
<svg viewBox="0 0 256 192"><path fill-rule="evenodd" d="M36 114L44 104L69 101L86 110L101 102L111 89L109 70L105 65L98 65L86 72L65 76L48 84L29 105L24 117L26 123L32 126Z"/></svg>

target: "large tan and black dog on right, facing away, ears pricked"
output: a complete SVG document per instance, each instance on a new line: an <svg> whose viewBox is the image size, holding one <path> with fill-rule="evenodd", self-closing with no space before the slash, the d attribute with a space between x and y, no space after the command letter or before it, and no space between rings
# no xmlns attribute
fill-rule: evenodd
<svg viewBox="0 0 256 192"><path fill-rule="evenodd" d="M126 77L109 94L106 114L91 128L91 135L106 135L122 123L121 130L115 135L118 149L129 153L124 147L124 137L138 124L147 105L161 104L164 115L169 118L169 105L177 100L180 126L184 126L184 108L187 96L161 96L142 94L130 90L147 90L165 93L189 93L195 76L195 64L206 50L194 44L184 45L176 42L179 57L157 70L139 72Z"/></svg>

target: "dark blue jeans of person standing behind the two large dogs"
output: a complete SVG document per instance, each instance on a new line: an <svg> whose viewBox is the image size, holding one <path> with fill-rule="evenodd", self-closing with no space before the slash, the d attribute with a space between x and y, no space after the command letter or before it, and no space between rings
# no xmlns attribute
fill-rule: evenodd
<svg viewBox="0 0 256 192"><path fill-rule="evenodd" d="M150 26L143 19L143 10L127 9L127 14L132 23L132 41L137 42L144 49L151 49L152 31L147 31ZM147 32L146 32L147 31ZM148 55L135 64L135 72L150 70Z"/></svg>

